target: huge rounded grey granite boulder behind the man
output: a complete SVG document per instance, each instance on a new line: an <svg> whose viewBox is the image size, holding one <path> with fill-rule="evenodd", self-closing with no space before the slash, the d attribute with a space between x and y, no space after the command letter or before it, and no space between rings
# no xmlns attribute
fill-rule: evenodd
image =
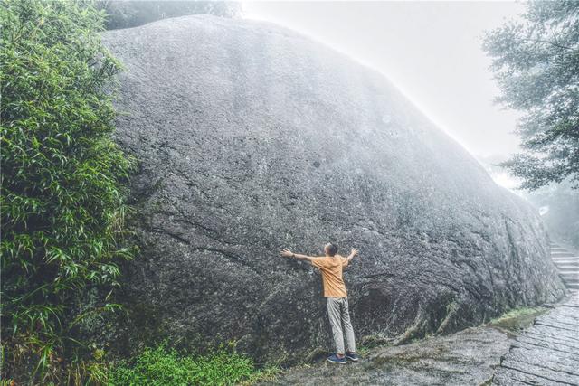
<svg viewBox="0 0 579 386"><path fill-rule="evenodd" d="M236 340L288 362L331 349L318 273L279 256L327 241L360 250L345 273L358 341L450 333L563 295L536 210L380 73L246 20L103 39L127 67L117 139L141 162L129 343Z"/></svg>

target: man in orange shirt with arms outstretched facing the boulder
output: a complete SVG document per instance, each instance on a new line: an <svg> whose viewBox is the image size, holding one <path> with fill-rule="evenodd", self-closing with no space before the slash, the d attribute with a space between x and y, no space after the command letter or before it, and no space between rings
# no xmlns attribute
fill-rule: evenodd
<svg viewBox="0 0 579 386"><path fill-rule="evenodd" d="M332 363L346 364L346 359L352 362L358 362L359 357L356 355L356 343L354 340L354 329L350 323L350 314L347 306L346 285L342 278L342 268L347 267L350 260L353 259L358 251L352 249L347 258L337 255L337 246L328 243L324 246L326 256L313 257L293 253L289 249L281 249L280 254L286 258L299 260L308 260L312 266L319 268L322 273L324 283L324 297L327 298L327 315L329 323L332 326L334 343L336 344L336 353L331 355L327 360ZM347 351L344 351L344 336L342 335L342 325L346 332Z"/></svg>

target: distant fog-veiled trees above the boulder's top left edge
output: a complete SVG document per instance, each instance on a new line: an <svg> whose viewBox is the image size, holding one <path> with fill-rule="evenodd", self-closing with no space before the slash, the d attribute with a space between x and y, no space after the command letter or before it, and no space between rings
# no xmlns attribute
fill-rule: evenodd
<svg viewBox="0 0 579 386"><path fill-rule="evenodd" d="M230 1L98 0L97 5L108 14L106 23L108 30L136 27L186 14L213 14L222 17L234 17L241 14L241 3Z"/></svg>

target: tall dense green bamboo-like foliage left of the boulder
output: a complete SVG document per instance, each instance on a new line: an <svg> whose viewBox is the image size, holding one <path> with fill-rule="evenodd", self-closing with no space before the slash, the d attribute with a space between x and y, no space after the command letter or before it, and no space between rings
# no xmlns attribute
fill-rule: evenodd
<svg viewBox="0 0 579 386"><path fill-rule="evenodd" d="M97 363L77 361L82 320L117 307L79 294L110 294L133 254L121 246L135 163L110 139L120 67L89 2L4 0L0 18L3 378L34 363L33 378L60 382Z"/></svg>

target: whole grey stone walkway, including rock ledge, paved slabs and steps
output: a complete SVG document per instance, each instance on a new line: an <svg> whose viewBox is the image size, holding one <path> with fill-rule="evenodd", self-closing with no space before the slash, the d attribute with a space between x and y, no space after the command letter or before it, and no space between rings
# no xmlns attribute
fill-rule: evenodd
<svg viewBox="0 0 579 386"><path fill-rule="evenodd" d="M289 369L263 384L286 385L577 385L579 257L558 245L552 259L567 297L522 332L502 325L468 328L413 344L379 347L360 363L322 362ZM528 319L533 321L534 315Z"/></svg>

